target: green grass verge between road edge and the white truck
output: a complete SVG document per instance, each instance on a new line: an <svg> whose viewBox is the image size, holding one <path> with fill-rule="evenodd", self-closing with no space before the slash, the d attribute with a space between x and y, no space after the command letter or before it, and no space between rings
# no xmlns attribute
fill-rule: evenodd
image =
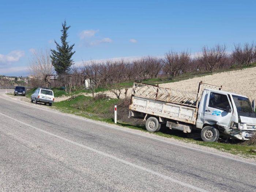
<svg viewBox="0 0 256 192"><path fill-rule="evenodd" d="M54 108L64 113L71 113L93 120L99 120L106 123L114 124L113 107L114 105L118 105L119 102L120 100L118 99L94 99L92 97L79 95L71 101L60 101L54 103ZM119 108L118 110L118 113L122 114L122 112L120 112L121 109ZM119 119L122 118L119 117ZM137 129L140 131L147 131L142 122L136 123L132 119L129 119L128 121L118 121L117 125L131 129ZM151 134L163 136L166 138L173 138L187 143L195 143L201 146L215 148L220 151L240 155L245 158L256 158L256 146L241 146L240 144L203 142L200 139L200 136L193 137L193 139L188 138L188 134L185 134L181 131L170 130L166 127L162 127L160 132Z"/></svg>

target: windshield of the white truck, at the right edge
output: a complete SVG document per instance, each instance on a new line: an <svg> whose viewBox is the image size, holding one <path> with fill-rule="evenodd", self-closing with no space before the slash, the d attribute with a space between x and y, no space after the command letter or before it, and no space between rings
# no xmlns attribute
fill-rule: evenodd
<svg viewBox="0 0 256 192"><path fill-rule="evenodd" d="M251 102L246 97L232 95L238 112L254 113Z"/></svg>

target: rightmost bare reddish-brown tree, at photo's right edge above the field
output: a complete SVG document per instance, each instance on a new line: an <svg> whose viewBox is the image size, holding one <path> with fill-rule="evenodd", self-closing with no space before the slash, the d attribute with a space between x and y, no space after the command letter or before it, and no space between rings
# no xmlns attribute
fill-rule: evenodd
<svg viewBox="0 0 256 192"><path fill-rule="evenodd" d="M256 59L256 45L253 42L252 44L245 43L244 46L237 44L232 56L239 65L245 64L248 67Z"/></svg>

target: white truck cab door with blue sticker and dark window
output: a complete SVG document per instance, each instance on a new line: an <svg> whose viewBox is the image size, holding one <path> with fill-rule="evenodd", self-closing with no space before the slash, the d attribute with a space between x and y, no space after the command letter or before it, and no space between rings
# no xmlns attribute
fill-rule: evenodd
<svg viewBox="0 0 256 192"><path fill-rule="evenodd" d="M221 124L228 126L231 120L233 109L227 94L215 93L208 94L205 110L204 123Z"/></svg>

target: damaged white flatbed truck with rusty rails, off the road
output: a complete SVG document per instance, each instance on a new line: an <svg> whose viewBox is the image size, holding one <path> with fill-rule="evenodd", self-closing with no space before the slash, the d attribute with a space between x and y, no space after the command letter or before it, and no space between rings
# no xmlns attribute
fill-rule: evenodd
<svg viewBox="0 0 256 192"><path fill-rule="evenodd" d="M254 100L202 81L195 93L134 83L129 118L143 118L150 132L162 124L184 133L200 130L206 142L217 141L220 134L248 140L256 132Z"/></svg>

